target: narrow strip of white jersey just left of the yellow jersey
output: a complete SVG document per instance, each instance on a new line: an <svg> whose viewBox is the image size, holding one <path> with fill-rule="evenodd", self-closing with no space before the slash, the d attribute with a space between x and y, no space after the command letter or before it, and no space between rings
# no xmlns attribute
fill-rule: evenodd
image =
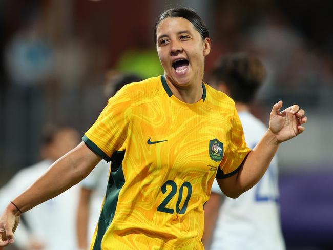
<svg viewBox="0 0 333 250"><path fill-rule="evenodd" d="M90 202L90 213L88 222L88 240L91 240L97 225L100 209L107 191L109 180L110 162L101 160L93 169L93 171L83 179L79 185L85 189L93 191Z"/></svg>

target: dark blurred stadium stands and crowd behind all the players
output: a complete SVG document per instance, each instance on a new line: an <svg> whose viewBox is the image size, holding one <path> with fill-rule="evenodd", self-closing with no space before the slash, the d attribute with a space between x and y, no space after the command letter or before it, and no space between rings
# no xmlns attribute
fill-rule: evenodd
<svg viewBox="0 0 333 250"><path fill-rule="evenodd" d="M107 98L106 72L161 74L153 42L166 8L193 8L209 27L214 61L247 51L268 69L253 112L298 103L306 132L279 149L288 249L333 249L333 32L330 1L0 1L0 186L39 160L46 123L82 134Z"/></svg>

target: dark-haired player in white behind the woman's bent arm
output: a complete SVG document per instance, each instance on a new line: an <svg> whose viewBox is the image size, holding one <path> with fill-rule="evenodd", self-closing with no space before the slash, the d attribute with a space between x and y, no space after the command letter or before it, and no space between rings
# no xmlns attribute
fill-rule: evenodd
<svg viewBox="0 0 333 250"><path fill-rule="evenodd" d="M261 61L245 53L221 58L212 72L212 86L234 99L251 149L267 130L250 113L250 104L265 74ZM279 209L276 156L262 179L237 199L224 196L214 180L210 200L204 207L204 245L210 245L211 250L285 249Z"/></svg>

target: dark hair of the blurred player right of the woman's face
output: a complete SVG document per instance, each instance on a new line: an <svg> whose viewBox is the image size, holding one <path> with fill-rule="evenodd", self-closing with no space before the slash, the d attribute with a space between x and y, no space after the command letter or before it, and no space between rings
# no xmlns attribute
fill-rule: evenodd
<svg viewBox="0 0 333 250"><path fill-rule="evenodd" d="M245 53L222 57L212 71L213 81L223 81L235 101L250 103L263 83L266 71L258 58Z"/></svg>

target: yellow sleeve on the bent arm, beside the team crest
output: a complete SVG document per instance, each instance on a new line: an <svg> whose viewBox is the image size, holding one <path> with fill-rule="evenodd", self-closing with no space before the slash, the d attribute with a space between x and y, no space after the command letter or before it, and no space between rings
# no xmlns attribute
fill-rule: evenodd
<svg viewBox="0 0 333 250"><path fill-rule="evenodd" d="M231 129L226 136L225 151L216 178L226 178L236 174L244 158L251 151L246 145L242 123L236 108L231 120Z"/></svg>

